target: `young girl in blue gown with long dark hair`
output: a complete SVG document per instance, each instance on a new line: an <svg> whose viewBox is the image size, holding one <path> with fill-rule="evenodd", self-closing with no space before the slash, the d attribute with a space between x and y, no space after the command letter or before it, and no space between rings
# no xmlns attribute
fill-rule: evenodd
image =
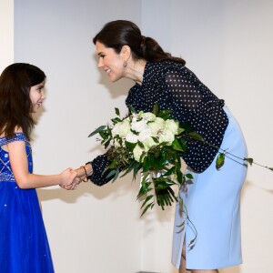
<svg viewBox="0 0 273 273"><path fill-rule="evenodd" d="M35 188L67 186L73 172L67 168L59 175L32 173L29 144L35 126L32 114L45 99L44 86L45 73L28 64L7 66L0 76L0 271L3 273L54 272Z"/></svg>

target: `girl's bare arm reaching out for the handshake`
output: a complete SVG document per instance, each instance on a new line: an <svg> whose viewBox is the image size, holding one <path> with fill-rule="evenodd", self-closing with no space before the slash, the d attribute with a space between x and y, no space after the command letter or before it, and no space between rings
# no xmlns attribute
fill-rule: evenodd
<svg viewBox="0 0 273 273"><path fill-rule="evenodd" d="M7 145L10 164L15 181L20 188L48 187L55 185L68 185L71 168L67 168L59 175L43 176L31 174L28 171L25 142L14 141Z"/></svg>

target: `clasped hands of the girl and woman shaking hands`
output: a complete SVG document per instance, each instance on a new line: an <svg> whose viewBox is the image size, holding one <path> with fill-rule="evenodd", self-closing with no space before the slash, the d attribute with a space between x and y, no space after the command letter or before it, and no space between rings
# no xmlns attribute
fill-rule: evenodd
<svg viewBox="0 0 273 273"><path fill-rule="evenodd" d="M60 174L63 182L59 186L66 188L67 190L76 189L81 182L87 182L87 177L91 176L92 172L93 169L91 163L76 169L68 167Z"/></svg>

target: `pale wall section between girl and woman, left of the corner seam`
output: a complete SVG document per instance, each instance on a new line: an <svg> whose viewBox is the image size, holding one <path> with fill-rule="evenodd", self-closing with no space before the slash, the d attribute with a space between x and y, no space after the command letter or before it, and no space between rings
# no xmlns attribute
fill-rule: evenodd
<svg viewBox="0 0 273 273"><path fill-rule="evenodd" d="M140 2L15 0L15 62L40 66L47 98L38 116L35 172L79 167L102 150L87 136L124 111L132 83L112 85L96 67L92 38L108 20L140 23ZM128 273L140 270L136 183L126 177L105 187L38 190L56 272Z"/></svg>

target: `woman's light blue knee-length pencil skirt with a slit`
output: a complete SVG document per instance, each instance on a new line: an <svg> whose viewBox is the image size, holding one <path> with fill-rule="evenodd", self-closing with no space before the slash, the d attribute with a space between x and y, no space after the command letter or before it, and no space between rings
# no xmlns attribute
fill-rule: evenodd
<svg viewBox="0 0 273 273"><path fill-rule="evenodd" d="M236 119L224 107L228 126L221 148L238 157L248 157L244 136ZM228 155L227 155L228 156ZM247 164L238 158L227 158L219 170L216 158L201 174L192 173L193 184L180 189L186 214L179 213L177 203L173 234L172 263L179 268L184 239L188 269L215 269L242 263L240 235L240 193L247 176ZM181 230L181 223L186 226ZM193 248L190 241L197 240Z"/></svg>

